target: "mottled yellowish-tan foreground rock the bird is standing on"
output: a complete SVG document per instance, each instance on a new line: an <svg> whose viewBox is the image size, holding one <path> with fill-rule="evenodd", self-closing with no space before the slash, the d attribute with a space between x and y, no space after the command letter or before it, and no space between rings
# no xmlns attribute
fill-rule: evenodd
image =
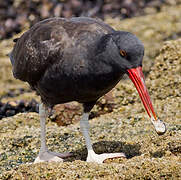
<svg viewBox="0 0 181 180"><path fill-rule="evenodd" d="M87 152L79 124L58 127L49 121L49 148L71 151L74 156L64 163L29 164L39 149L39 117L37 113L24 113L0 121L0 178L181 178L180 49L181 39L166 42L147 78L156 112L167 125L163 136L156 134L133 85L125 80L113 93L115 111L92 119L90 124L97 153L124 152L127 159L86 163Z"/></svg>

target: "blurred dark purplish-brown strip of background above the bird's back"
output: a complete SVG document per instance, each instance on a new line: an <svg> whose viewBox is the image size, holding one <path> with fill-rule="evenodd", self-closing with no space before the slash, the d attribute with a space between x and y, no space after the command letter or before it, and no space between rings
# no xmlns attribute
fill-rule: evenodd
<svg viewBox="0 0 181 180"><path fill-rule="evenodd" d="M0 40L49 17L131 18L157 13L179 0L0 0Z"/></svg>

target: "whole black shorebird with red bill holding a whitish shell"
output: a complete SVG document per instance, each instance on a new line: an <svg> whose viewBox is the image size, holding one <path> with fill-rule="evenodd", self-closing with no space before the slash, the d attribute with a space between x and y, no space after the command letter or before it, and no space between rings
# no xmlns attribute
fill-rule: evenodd
<svg viewBox="0 0 181 180"><path fill-rule="evenodd" d="M77 101L88 151L87 162L125 157L123 153L96 154L89 134L89 113L104 94L127 74L135 85L158 134L166 131L154 111L142 71L143 43L132 33L117 31L102 20L88 17L53 17L33 25L14 40L9 57L16 79L28 82L41 97L41 147L34 163L62 162L71 153L48 150L45 122L56 104Z"/></svg>

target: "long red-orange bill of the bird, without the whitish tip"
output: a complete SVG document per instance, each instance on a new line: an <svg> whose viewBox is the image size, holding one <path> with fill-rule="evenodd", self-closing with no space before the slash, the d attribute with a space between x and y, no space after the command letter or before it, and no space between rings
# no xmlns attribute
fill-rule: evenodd
<svg viewBox="0 0 181 180"><path fill-rule="evenodd" d="M129 78L134 83L134 85L140 95L140 98L143 102L143 105L144 105L149 117L150 118L154 117L154 119L157 120L148 90L145 85L142 67L129 69L128 73L129 73Z"/></svg>

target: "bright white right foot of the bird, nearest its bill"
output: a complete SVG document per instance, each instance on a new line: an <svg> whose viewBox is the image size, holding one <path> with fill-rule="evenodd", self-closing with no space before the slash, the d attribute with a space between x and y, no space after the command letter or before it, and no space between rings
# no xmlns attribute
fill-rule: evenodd
<svg viewBox="0 0 181 180"><path fill-rule="evenodd" d="M87 156L87 162L96 162L96 163L103 163L106 159L112 158L119 158L124 157L126 158L124 153L103 153L103 154L96 154L94 151L89 151Z"/></svg>

